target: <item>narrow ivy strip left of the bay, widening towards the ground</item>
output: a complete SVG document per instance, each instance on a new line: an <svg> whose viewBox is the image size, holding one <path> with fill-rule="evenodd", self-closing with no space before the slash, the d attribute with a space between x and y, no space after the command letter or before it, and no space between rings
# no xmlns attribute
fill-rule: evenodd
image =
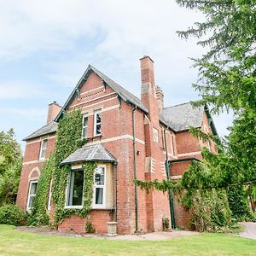
<svg viewBox="0 0 256 256"><path fill-rule="evenodd" d="M49 184L52 171L55 167L55 157L50 155L49 160L44 163L41 175L38 179L37 195L34 201L32 212L28 215L27 224L29 225L48 225L49 212L47 210L49 201Z"/></svg>

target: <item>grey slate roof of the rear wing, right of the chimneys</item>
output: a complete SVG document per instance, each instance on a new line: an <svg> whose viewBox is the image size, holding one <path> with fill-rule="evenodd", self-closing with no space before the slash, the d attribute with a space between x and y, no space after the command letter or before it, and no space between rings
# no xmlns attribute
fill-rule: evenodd
<svg viewBox="0 0 256 256"><path fill-rule="evenodd" d="M163 108L160 121L170 126L173 131L188 130L189 126L201 127L204 107L194 108L190 102Z"/></svg>

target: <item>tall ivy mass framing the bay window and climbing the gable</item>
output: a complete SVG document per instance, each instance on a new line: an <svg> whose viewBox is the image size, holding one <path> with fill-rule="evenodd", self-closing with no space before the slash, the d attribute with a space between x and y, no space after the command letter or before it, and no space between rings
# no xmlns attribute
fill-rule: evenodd
<svg viewBox="0 0 256 256"><path fill-rule="evenodd" d="M73 110L61 119L56 134L55 143L55 169L53 172L53 202L55 206L55 224L59 224L64 218L73 214L80 217L87 217L90 214L90 206L93 195L93 172L96 165L86 162L84 169L84 204L82 209L66 209L65 195L67 181L71 171L69 165L60 166L61 161L67 158L75 150L84 145L81 139L82 113L80 110Z"/></svg>

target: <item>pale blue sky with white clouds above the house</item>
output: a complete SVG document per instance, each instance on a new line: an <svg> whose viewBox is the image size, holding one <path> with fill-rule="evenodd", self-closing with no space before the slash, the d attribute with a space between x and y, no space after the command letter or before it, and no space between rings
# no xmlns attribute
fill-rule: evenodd
<svg viewBox="0 0 256 256"><path fill-rule="evenodd" d="M199 98L191 57L205 49L177 31L204 20L172 0L0 0L0 131L22 138L46 124L48 104L60 105L91 64L140 97L139 58L154 60L165 107ZM232 116L213 117L228 134Z"/></svg>

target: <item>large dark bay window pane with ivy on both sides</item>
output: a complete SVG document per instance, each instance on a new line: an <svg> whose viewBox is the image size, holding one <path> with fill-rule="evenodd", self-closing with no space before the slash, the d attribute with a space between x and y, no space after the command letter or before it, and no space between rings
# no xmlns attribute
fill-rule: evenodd
<svg viewBox="0 0 256 256"><path fill-rule="evenodd" d="M84 170L76 169L70 172L67 186L66 207L83 206Z"/></svg>

